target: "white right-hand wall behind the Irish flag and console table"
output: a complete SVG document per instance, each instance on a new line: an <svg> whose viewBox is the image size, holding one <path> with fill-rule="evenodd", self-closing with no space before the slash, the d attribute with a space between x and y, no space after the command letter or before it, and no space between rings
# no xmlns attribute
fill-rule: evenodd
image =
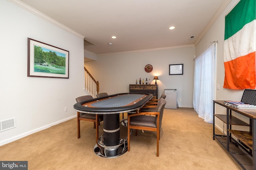
<svg viewBox="0 0 256 170"><path fill-rule="evenodd" d="M239 0L232 0L230 4L225 8L219 18L215 21L212 27L208 30L206 35L202 40L196 45L196 57L198 57L206 48L210 45L211 41L218 41L217 53L216 53L216 84L220 84L220 90L216 90L216 100L234 100L240 101L242 98L243 90L230 90L222 88L224 84L224 60L223 60L223 47L224 47L224 29L225 29L225 15L230 12L230 10L237 4ZM226 109L224 107L216 107L216 112L218 114L226 114ZM248 122L249 119L241 115L234 113L233 115L238 118ZM216 119L217 126L222 129L223 122ZM241 128L241 127L239 127ZM232 127L232 129L234 129Z"/></svg>

